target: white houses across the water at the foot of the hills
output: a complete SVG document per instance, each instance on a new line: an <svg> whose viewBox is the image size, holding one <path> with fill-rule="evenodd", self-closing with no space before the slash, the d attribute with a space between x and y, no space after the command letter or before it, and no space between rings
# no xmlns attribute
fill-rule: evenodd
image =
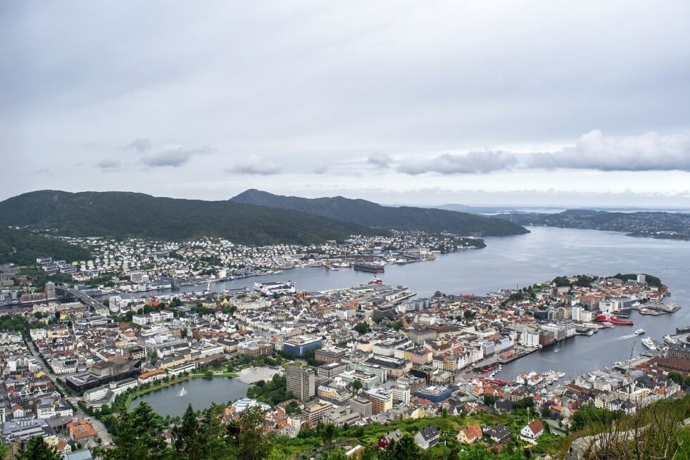
<svg viewBox="0 0 690 460"><path fill-rule="evenodd" d="M261 274L280 274L299 267L351 267L357 262L405 264L431 260L434 253L481 247L477 238L437 236L424 232L394 232L391 236L352 236L344 242L315 245L237 245L222 238L200 238L185 243L142 239L69 238L87 248L92 259L79 261L39 257L37 267L47 274L69 275L89 295L166 290L208 281ZM17 276L11 265L0 267L0 283ZM0 305L52 300L44 293L23 292L8 282L0 290ZM20 298L20 296L22 296Z"/></svg>

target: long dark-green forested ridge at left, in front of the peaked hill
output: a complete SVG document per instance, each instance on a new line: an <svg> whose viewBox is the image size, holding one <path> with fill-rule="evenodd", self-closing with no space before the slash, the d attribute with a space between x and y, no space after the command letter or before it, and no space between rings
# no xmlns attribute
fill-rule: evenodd
<svg viewBox="0 0 690 460"><path fill-rule="evenodd" d="M0 226L55 229L55 234L65 236L173 241L218 236L248 245L318 243L353 234L382 233L303 212L129 192L24 193L0 202Z"/></svg>

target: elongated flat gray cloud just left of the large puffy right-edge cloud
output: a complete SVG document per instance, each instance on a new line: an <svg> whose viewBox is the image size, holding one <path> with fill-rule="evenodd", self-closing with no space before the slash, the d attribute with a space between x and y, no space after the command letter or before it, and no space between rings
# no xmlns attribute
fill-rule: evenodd
<svg viewBox="0 0 690 460"><path fill-rule="evenodd" d="M444 153L436 158L403 163L399 172L406 174L485 174L492 171L509 170L517 165L514 153L503 151L473 151L465 155Z"/></svg>

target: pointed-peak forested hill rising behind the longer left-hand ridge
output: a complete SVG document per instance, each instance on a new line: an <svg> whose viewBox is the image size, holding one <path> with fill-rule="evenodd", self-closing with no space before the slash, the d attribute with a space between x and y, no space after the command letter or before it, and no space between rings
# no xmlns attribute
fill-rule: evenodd
<svg viewBox="0 0 690 460"><path fill-rule="evenodd" d="M423 207L382 206L371 201L353 200L341 196L300 198L273 195L265 191L251 189L230 200L234 203L308 212L344 222L382 229L420 230L430 233L449 232L477 236L506 236L528 233L522 226L493 217Z"/></svg>

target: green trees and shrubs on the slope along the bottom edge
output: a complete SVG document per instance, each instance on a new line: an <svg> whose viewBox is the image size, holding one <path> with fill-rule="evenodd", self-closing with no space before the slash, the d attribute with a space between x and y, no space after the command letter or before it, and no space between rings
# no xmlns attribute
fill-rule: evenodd
<svg viewBox="0 0 690 460"><path fill-rule="evenodd" d="M579 459L627 460L662 459L686 460L690 455L690 426L684 419L690 416L690 396L652 404L639 414L625 416L586 407L574 422L573 433L559 437L546 433L537 445L517 440L516 433L534 418L530 409L513 414L482 412L471 415L392 421L387 425L370 423L365 426L338 428L318 423L303 427L294 439L265 433L265 412L250 407L239 414L239 420L223 421L224 406L213 404L201 412L191 406L181 419L172 423L153 413L145 402L131 412L122 411L114 420L115 439L110 447L99 447L96 454L105 460L344 460L351 447L363 447L363 460L527 460L549 454L564 459L568 449L582 447ZM495 449L487 442L461 445L456 441L460 428L472 423L481 426L504 424L513 440ZM427 451L415 445L413 436L421 428L432 425L439 429L439 444ZM391 442L386 449L378 449L377 442L389 430L403 433L399 442ZM166 433L166 435L163 435ZM621 433L632 433L621 437ZM170 443L166 438L170 437ZM596 435L597 443L584 436ZM54 450L39 441L30 441L31 456L20 452L21 459L56 459ZM583 447L584 446L584 447ZM45 452L43 452L45 451ZM45 456L44 456L45 454Z"/></svg>

